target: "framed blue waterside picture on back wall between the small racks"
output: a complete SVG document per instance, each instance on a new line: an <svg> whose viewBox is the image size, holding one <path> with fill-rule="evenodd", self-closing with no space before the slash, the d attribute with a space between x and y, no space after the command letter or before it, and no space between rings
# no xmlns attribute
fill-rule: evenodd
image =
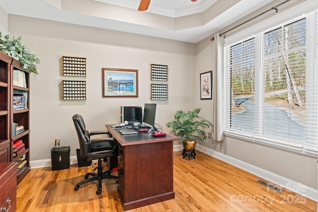
<svg viewBox="0 0 318 212"><path fill-rule="evenodd" d="M102 68L103 97L138 97L138 70Z"/></svg>

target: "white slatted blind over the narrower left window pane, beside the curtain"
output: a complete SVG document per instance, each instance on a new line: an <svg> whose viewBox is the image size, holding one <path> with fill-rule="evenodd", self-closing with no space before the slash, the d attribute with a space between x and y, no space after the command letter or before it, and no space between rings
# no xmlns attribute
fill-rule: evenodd
<svg viewBox="0 0 318 212"><path fill-rule="evenodd" d="M230 113L227 127L254 131L255 38L228 47L230 71Z"/></svg>

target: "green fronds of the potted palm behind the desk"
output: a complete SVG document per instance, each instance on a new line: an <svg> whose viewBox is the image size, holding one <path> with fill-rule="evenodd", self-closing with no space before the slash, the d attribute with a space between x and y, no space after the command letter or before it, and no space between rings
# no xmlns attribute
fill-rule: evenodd
<svg viewBox="0 0 318 212"><path fill-rule="evenodd" d="M180 142L186 140L206 141L207 135L205 128L212 127L213 124L199 116L201 108L194 108L192 111L184 112L178 110L174 114L174 119L166 124L171 129L170 133L176 132L176 136L180 137Z"/></svg>

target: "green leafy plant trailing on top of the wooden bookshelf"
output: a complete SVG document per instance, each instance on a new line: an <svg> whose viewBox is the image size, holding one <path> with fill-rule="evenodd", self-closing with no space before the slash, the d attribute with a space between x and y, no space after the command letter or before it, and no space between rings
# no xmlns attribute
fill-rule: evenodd
<svg viewBox="0 0 318 212"><path fill-rule="evenodd" d="M2 36L0 32L0 51L20 61L23 69L29 70L34 74L39 74L36 64L40 64L40 60L21 42L22 37L10 38L9 35Z"/></svg>

